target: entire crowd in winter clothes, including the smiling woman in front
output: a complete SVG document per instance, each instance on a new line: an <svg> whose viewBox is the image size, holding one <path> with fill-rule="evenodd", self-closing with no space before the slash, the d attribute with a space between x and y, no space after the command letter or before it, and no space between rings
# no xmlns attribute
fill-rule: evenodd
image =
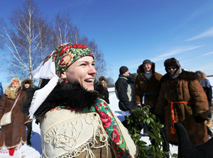
<svg viewBox="0 0 213 158"><path fill-rule="evenodd" d="M149 106L164 125L164 151L169 151L169 143L178 145L176 122L185 127L193 145L207 142L212 126L210 82L201 71L182 69L175 58L165 60L164 66L166 74L162 75L146 59L137 76L121 66L115 83L120 110L131 115ZM5 147L12 156L24 143L31 145L35 118L40 123L43 157L137 157L125 124L108 106L106 78L95 81L95 58L86 45L58 46L33 76L41 81L37 88L31 79L13 78L3 93L0 84L0 120L12 112L11 123L1 126L0 148ZM151 132L146 124L142 127L145 135Z"/></svg>

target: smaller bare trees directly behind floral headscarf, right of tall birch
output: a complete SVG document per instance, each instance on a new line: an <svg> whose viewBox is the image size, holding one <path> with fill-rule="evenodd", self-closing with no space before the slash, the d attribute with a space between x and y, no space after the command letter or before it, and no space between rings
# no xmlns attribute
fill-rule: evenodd
<svg viewBox="0 0 213 158"><path fill-rule="evenodd" d="M81 43L87 45L95 56L96 61L96 77L100 77L106 72L106 63L103 57L103 53L98 49L95 41L89 41L86 36L81 37L79 29L72 24L72 20L69 15L57 15L56 24L52 28L53 30L53 45L58 46L62 43L72 42Z"/></svg>

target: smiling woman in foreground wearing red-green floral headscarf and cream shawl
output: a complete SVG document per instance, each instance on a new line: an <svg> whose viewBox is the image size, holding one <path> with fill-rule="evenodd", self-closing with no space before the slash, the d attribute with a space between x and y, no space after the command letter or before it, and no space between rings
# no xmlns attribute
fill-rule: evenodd
<svg viewBox="0 0 213 158"><path fill-rule="evenodd" d="M31 118L40 118L43 157L135 156L127 130L97 98L95 61L87 46L62 44L33 73L50 79L35 91L29 109Z"/></svg>

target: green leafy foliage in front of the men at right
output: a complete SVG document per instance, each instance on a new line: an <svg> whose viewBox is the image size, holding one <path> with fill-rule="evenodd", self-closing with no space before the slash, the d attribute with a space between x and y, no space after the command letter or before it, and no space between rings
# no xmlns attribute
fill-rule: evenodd
<svg viewBox="0 0 213 158"><path fill-rule="evenodd" d="M140 135L141 129L138 126L140 122L146 123L148 127L151 127L149 137L151 141L154 142L154 145L147 145L147 143L142 140ZM127 128L133 141L138 147L138 157L166 157L166 153L162 150L163 138L160 134L163 125L157 121L157 118L154 114L151 114L149 106L143 106L134 110L132 115L127 117Z"/></svg>

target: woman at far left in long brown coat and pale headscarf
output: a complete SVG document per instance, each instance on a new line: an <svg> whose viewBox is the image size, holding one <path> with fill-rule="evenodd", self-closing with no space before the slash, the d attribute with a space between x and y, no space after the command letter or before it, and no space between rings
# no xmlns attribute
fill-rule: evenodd
<svg viewBox="0 0 213 158"><path fill-rule="evenodd" d="M11 123L1 127L0 148L6 147L9 155L14 155L15 148L20 148L26 143L26 128L24 123L28 120L27 115L21 112L21 105L25 102L27 95L20 89L21 82L18 78L13 78L11 84L6 88L5 94L0 102L0 120L4 113L12 110Z"/></svg>

